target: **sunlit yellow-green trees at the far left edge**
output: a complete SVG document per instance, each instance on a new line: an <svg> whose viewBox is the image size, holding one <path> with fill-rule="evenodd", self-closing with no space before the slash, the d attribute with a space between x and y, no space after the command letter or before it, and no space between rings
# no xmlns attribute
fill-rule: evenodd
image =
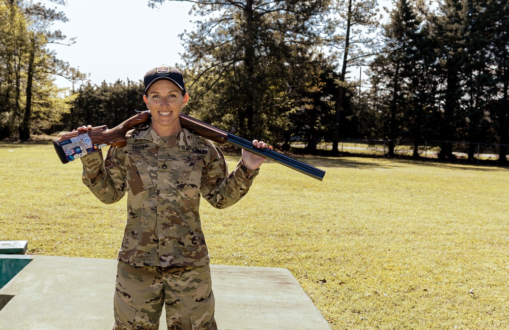
<svg viewBox="0 0 509 330"><path fill-rule="evenodd" d="M61 121L70 110L72 97L62 97L55 75L75 81L84 75L47 48L72 43L52 31L55 21L67 18L40 3L0 1L0 139L30 139L33 130Z"/></svg>

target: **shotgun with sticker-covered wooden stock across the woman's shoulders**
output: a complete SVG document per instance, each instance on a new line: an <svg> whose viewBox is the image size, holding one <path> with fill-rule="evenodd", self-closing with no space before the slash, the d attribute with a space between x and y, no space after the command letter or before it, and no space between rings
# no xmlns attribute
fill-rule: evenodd
<svg viewBox="0 0 509 330"><path fill-rule="evenodd" d="M133 126L145 123L150 117L150 111L147 110L132 116L112 129L108 129L106 125L103 125L93 127L87 130L87 132L73 131L64 133L58 139L53 140L53 146L63 164L96 152L106 145L123 147L127 144L125 139L126 133ZM224 144L228 142L276 163L288 166L296 171L319 179L320 181L322 181L325 175L324 170L280 154L269 148L257 148L253 146L252 141L223 131L184 113L180 113L179 119L180 125L183 128L191 130L216 143Z"/></svg>

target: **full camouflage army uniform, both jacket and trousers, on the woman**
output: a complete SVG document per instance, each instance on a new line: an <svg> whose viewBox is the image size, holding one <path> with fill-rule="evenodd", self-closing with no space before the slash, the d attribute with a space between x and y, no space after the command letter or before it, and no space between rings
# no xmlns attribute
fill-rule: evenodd
<svg viewBox="0 0 509 330"><path fill-rule="evenodd" d="M125 147L110 147L104 161L101 152L81 158L82 181L99 200L114 203L128 192L115 304L116 321L124 325L118 328L157 328L157 324L149 324L158 322L162 301L166 303L168 329L216 328L209 255L199 215L200 194L214 207L230 206L247 193L258 170L248 169L241 160L229 174L221 151L186 129L167 142L150 127L130 131L126 140ZM172 288L171 283L179 281L169 281L168 274L182 274L187 279L185 285ZM142 296L147 290L152 292L141 298L146 306L132 301L134 295ZM190 309L201 313L191 313L197 320L191 327L184 324L190 324L189 312L179 320L182 313L176 311L181 310L177 305L187 305L182 295L175 298L179 290L193 302L195 307L189 305ZM154 293L161 297L166 293L165 298L158 300ZM209 307L200 308L204 306L197 303ZM120 315L125 313L118 307L125 304L138 316ZM177 307L170 310L172 306ZM127 318L127 324L121 318ZM131 324L138 321L145 325Z"/></svg>

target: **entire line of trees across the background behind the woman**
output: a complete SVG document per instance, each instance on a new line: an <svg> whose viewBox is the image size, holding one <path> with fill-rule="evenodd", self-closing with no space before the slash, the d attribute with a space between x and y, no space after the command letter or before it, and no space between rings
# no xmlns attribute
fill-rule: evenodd
<svg viewBox="0 0 509 330"><path fill-rule="evenodd" d="M149 5L174 1L179 0L149 0ZM282 149L302 141L308 153L321 141L332 142L337 153L340 139L364 138L387 140L389 156L397 141L411 140L418 157L423 141L436 140L439 158L450 159L453 141L470 141L499 144L499 160L506 162L506 1L395 0L386 12L376 0L190 2L195 28L180 36L185 53L177 65L191 95L185 109L190 115ZM60 110L39 103L39 95L58 99L47 90L55 88L50 73L62 63L44 46L62 34L50 33L48 24L34 26L35 14L25 13L21 0L4 0L1 6L17 7L25 30L18 32L23 42L4 39L18 23L2 16L9 24L0 25L0 137L26 138L25 117L33 123L29 132L48 124L72 129L85 122L116 125L145 108L142 83L120 80L84 83L59 99ZM53 14L46 19L65 19ZM34 40L40 48L31 60ZM23 51L9 53L11 48ZM15 56L17 62L7 61ZM43 70L51 66L40 58L52 70ZM362 70L365 78L352 79L352 70ZM82 78L70 68L64 73L72 76L69 72L72 79ZM29 88L29 80L37 86ZM26 102L28 95L32 102ZM473 159L473 147L468 155Z"/></svg>

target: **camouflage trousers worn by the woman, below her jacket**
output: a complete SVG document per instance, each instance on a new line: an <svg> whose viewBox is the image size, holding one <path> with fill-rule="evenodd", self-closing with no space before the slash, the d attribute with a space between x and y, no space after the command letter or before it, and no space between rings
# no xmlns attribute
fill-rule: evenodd
<svg viewBox="0 0 509 330"><path fill-rule="evenodd" d="M117 266L114 330L158 330L163 304L168 330L217 330L209 265Z"/></svg>

